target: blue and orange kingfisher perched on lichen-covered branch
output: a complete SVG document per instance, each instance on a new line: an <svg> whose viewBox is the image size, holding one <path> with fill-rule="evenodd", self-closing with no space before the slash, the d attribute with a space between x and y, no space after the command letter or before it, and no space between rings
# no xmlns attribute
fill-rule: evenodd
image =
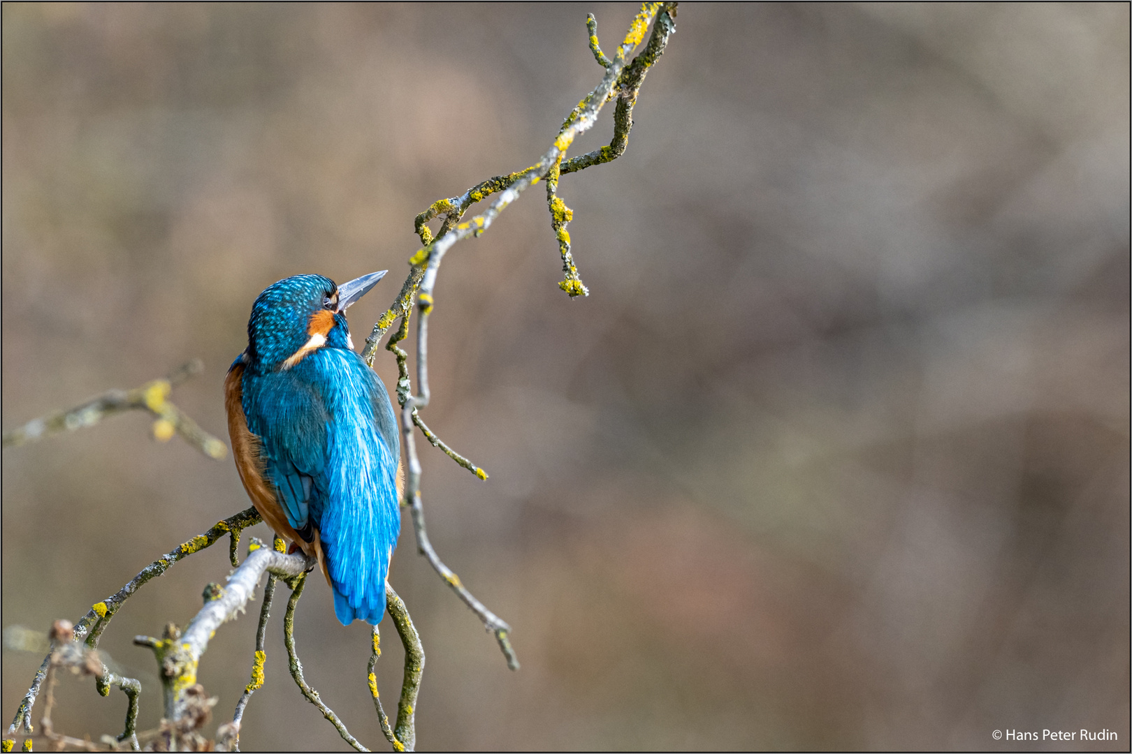
<svg viewBox="0 0 1132 754"><path fill-rule="evenodd" d="M268 286L224 381L240 480L290 551L317 558L342 625L381 619L401 531L397 421L345 317L386 271L341 286L321 275Z"/></svg>

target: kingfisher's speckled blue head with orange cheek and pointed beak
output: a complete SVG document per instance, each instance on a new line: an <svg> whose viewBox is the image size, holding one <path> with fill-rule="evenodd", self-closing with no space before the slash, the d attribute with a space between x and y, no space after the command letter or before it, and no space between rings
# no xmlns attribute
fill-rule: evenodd
<svg viewBox="0 0 1132 754"><path fill-rule="evenodd" d="M345 311L387 271L341 286L321 275L295 275L268 286L251 305L248 359L273 371L290 369L318 348L353 348Z"/></svg>

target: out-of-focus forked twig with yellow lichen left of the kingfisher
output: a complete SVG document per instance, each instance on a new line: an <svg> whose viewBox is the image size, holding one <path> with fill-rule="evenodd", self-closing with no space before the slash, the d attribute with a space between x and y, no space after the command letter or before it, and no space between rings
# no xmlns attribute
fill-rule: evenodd
<svg viewBox="0 0 1132 754"><path fill-rule="evenodd" d="M188 414L168 400L173 385L199 374L204 364L200 359L192 359L166 379L146 382L132 390L108 390L75 408L42 416L22 427L5 432L3 447L15 448L55 432L93 426L114 414L144 409L157 417L153 423L153 436L161 442L179 434L205 456L221 460L228 453L228 445L201 430Z"/></svg>

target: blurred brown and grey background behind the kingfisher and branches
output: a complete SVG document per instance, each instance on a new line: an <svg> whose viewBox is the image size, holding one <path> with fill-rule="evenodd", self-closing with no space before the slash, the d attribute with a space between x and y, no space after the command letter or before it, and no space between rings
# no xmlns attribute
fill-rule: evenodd
<svg viewBox="0 0 1132 754"><path fill-rule="evenodd" d="M172 399L226 440L255 296L388 268L360 343L417 213L532 164L597 84L591 10L611 49L635 6L6 3L3 427L198 356ZM423 415L491 476L424 445L426 514L523 667L406 521L419 747L1126 749L1127 5L686 5L635 121L561 182L588 298L556 287L541 184L441 268ZM249 504L231 458L140 413L2 463L5 626L77 619ZM143 728L131 639L186 623L226 551L103 639ZM242 745L345 748L288 677L277 595ZM209 735L258 609L204 657ZM384 748L368 629L320 579L297 640ZM41 659L5 652L5 725ZM60 683L57 729L121 730L93 686Z"/></svg>

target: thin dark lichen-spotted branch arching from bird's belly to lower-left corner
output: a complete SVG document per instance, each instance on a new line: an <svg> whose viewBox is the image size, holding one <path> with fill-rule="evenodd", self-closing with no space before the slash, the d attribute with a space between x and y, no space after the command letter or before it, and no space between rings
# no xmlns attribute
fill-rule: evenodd
<svg viewBox="0 0 1132 754"><path fill-rule="evenodd" d="M75 625L75 638L72 641L82 642L86 639L88 647L92 649L97 648L98 638L110 624L111 618L114 617L114 613L118 612L122 604L125 604L126 600L134 595L134 592L140 589L146 582L168 571L169 566L173 563L177 563L181 558L188 557L194 553L199 553L203 549L212 547L212 545L225 534L230 534L232 536L230 557L232 560L232 564L237 565L235 545L240 540L240 532L250 526L259 523L261 520L263 519L259 518L259 512L256 511L255 508L249 508L237 513L235 515L224 519L223 521L217 521L216 526L205 534L197 535L187 543L173 548L173 551L171 551L168 555L157 558L143 569L140 573L130 579L130 581L115 593L102 601L95 603L87 614L84 615ZM8 730L5 733L6 737L15 736L20 727L23 727L27 733L33 733L32 708L35 705L35 697L40 693L40 686L43 684L43 679L46 677L50 666L51 655L49 653L45 658L43 658L43 662L40 665L40 669L35 674L35 678L32 681L31 688L27 690L24 699L20 700L19 708L16 710L16 717L12 719L11 725L8 726Z"/></svg>

